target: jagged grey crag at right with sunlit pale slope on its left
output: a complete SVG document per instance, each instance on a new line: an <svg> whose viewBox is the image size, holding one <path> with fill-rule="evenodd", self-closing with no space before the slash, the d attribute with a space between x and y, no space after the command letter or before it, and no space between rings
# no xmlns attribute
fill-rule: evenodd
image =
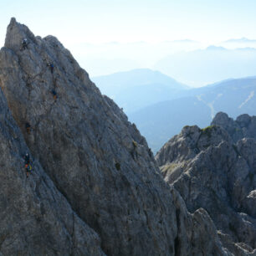
<svg viewBox="0 0 256 256"><path fill-rule="evenodd" d="M229 124L227 115L219 123ZM248 118L247 120L251 120ZM178 154L177 154L178 152ZM222 127L184 127L156 155L166 182L181 193L190 212L207 210L223 245L234 255L256 253L256 141L234 144Z"/></svg>

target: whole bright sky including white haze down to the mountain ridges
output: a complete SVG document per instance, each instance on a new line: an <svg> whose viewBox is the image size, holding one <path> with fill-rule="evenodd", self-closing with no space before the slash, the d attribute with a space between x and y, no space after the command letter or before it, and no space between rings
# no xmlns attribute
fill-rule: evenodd
<svg viewBox="0 0 256 256"><path fill-rule="evenodd" d="M256 39L255 0L0 0L0 3L1 46L10 18L15 17L35 35L52 34L59 38L90 76L154 69L159 60L170 54L205 49L212 44L229 49L256 48L256 43L222 43L230 38ZM194 42L170 43L183 39ZM192 86L200 85L181 80Z"/></svg>

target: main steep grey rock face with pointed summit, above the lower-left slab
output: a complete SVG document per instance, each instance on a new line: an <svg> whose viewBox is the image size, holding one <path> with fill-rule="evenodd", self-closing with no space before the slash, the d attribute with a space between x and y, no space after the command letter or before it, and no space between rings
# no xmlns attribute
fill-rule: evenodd
<svg viewBox="0 0 256 256"><path fill-rule="evenodd" d="M23 38L28 49L20 50ZM114 102L56 38L35 38L14 19L0 59L1 87L28 147L99 233L105 253L171 253L171 194L146 141Z"/></svg>

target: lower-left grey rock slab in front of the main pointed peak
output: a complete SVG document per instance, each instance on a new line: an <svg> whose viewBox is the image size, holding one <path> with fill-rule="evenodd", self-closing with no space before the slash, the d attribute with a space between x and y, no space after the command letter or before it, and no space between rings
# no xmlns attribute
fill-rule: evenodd
<svg viewBox="0 0 256 256"><path fill-rule="evenodd" d="M99 236L72 210L37 159L27 178L29 152L0 90L0 254L104 255Z"/></svg>

